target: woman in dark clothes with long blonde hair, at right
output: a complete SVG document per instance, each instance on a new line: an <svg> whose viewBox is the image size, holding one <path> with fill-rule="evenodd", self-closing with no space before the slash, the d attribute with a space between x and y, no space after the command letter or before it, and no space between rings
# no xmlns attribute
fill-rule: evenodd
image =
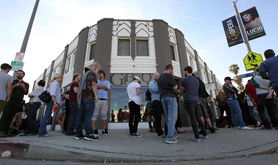
<svg viewBox="0 0 278 165"><path fill-rule="evenodd" d="M218 95L216 96L216 101L218 102L218 108L220 110L220 128L223 128L223 118L224 118L224 111L226 111L226 115L228 117L228 128L231 128L231 114L230 114L230 107L226 101L225 93L223 89L220 89Z"/></svg>

